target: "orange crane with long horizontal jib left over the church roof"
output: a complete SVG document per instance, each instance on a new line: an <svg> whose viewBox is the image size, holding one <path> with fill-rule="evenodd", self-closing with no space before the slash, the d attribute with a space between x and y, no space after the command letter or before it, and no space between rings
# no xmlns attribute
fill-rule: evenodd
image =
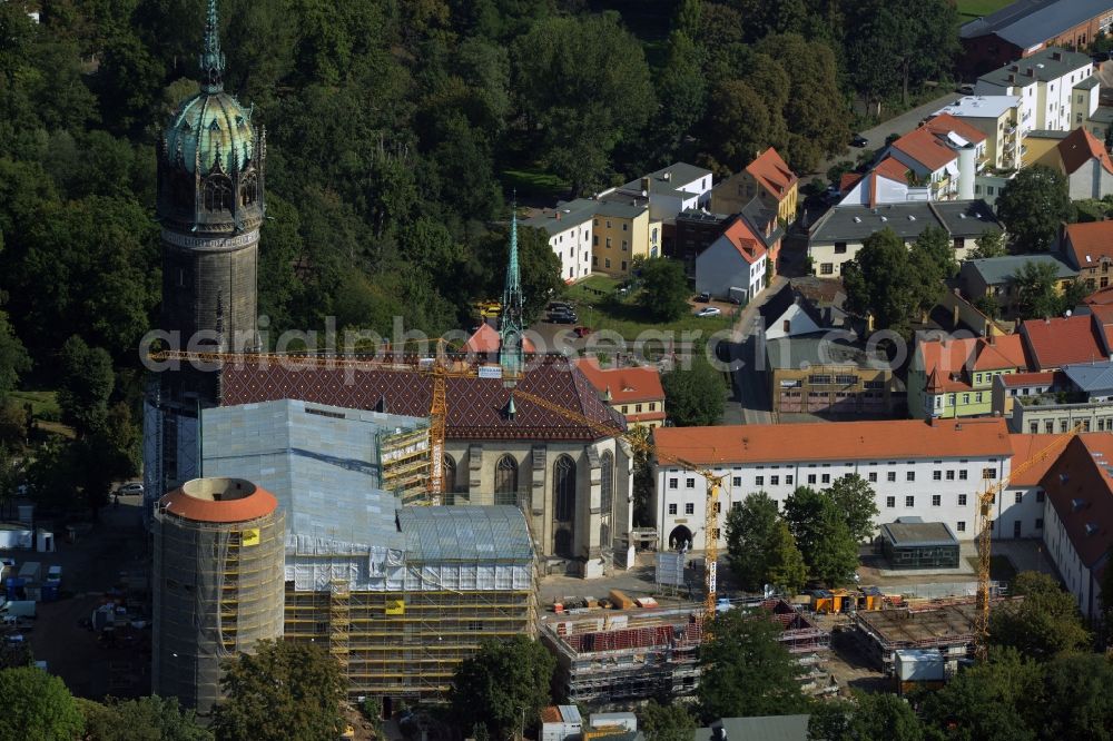
<svg viewBox="0 0 1113 741"><path fill-rule="evenodd" d="M440 502L444 491L444 436L449 414L447 378L476 378L476 366L449 358L443 352L446 343L437 340L436 354L429 358L361 358L344 355L312 355L285 353L200 353L189 350L157 350L149 357L156 363L185 360L193 363L289 363L328 369L385 370L387 373L420 373L433 378L432 403L429 409L430 476L425 485L426 503Z"/></svg>

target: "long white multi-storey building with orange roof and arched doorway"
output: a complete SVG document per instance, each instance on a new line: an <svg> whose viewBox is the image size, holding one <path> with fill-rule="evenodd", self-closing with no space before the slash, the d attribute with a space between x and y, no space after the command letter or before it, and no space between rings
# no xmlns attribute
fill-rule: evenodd
<svg viewBox="0 0 1113 741"><path fill-rule="evenodd" d="M707 480L668 463L680 458L722 476L720 507L739 506L754 492L778 505L797 486L824 488L848 474L869 482L879 523L919 516L946 523L959 540L976 535L977 493L1008 475L1013 447L1003 419L660 427L651 506L661 550L706 543ZM726 531L719 527L719 545Z"/></svg>

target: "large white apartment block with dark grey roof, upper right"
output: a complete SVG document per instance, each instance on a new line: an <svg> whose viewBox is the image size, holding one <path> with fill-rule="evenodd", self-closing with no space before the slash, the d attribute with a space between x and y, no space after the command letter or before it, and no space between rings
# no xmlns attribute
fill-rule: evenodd
<svg viewBox="0 0 1113 741"><path fill-rule="evenodd" d="M1089 81L1093 73L1089 56L1048 47L983 75L974 95L1020 98L1022 138L1033 129L1070 131L1097 110L1097 87Z"/></svg>

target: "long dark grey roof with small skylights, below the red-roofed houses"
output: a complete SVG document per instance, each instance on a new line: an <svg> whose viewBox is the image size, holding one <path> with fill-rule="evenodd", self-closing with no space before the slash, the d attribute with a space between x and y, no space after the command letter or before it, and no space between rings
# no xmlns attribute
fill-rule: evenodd
<svg viewBox="0 0 1113 741"><path fill-rule="evenodd" d="M952 237L976 237L989 229L1002 229L993 209L981 199L904 201L874 207L836 206L819 219L810 241L857 243L886 227L913 240L929 226L942 227Z"/></svg>

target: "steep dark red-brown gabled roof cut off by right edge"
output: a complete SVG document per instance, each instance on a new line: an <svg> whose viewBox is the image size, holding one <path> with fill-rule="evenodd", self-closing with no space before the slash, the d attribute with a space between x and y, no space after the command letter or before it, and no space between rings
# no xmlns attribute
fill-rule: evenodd
<svg viewBox="0 0 1113 741"><path fill-rule="evenodd" d="M1075 552L1092 566L1113 542L1113 435L1071 439L1042 483Z"/></svg>

